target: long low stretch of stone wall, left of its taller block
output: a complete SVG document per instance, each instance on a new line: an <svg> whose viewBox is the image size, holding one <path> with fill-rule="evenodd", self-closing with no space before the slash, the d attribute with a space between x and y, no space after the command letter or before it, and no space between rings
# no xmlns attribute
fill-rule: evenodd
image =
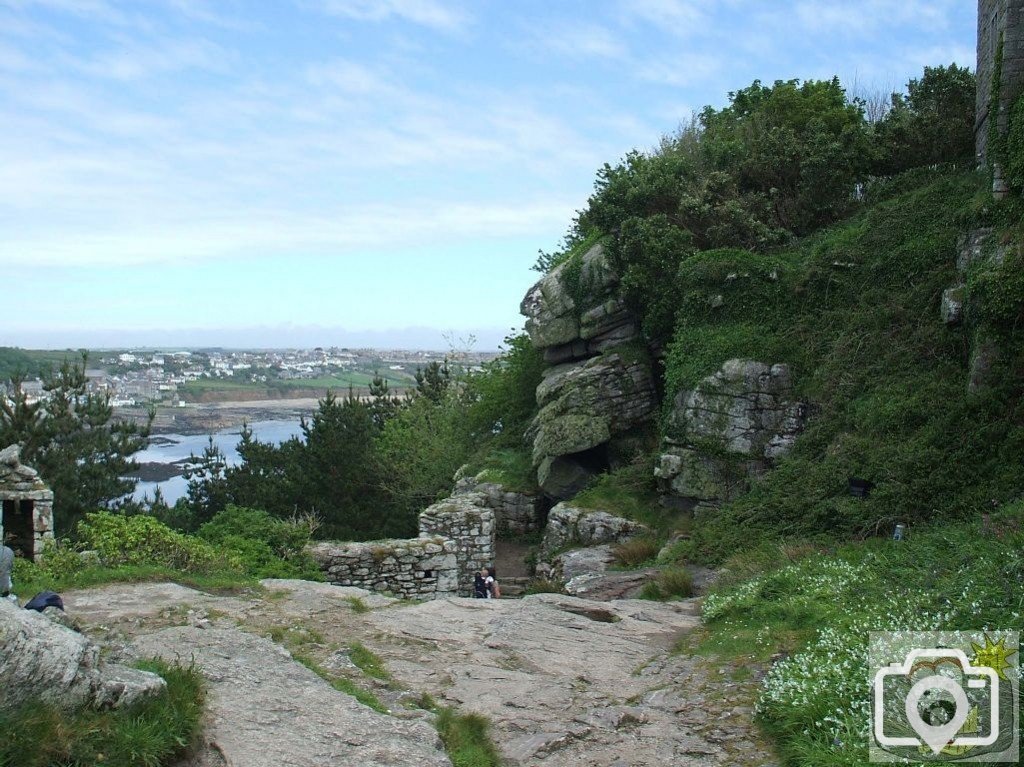
<svg viewBox="0 0 1024 767"><path fill-rule="evenodd" d="M460 591L456 548L455 541L431 536L367 543L325 541L307 551L335 586L357 586L404 599L438 599Z"/></svg>

